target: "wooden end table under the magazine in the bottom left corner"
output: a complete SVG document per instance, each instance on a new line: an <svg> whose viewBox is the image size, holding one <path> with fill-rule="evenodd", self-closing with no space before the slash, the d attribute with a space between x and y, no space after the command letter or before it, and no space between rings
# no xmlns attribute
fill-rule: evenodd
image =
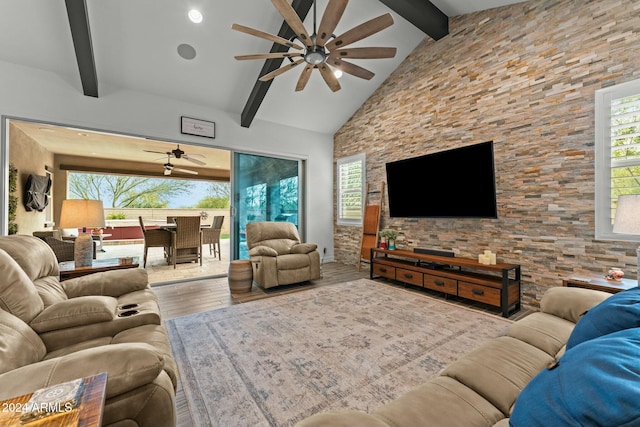
<svg viewBox="0 0 640 427"><path fill-rule="evenodd" d="M22 410L27 406L33 393L12 399L0 401L1 426L29 426L29 427L100 427L102 425L102 411L104 409L107 373L83 378L84 392L77 408L58 414L53 414L27 424L20 423Z"/></svg>

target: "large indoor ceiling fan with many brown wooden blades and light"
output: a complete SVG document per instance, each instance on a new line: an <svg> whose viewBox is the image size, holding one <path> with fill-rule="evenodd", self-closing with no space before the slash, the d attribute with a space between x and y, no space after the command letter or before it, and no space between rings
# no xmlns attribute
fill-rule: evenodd
<svg viewBox="0 0 640 427"><path fill-rule="evenodd" d="M320 70L320 74L327 86L329 86L333 92L336 92L340 90L340 83L330 66L353 76L370 80L374 76L374 73L351 62L345 61L345 58L381 59L393 58L396 55L395 47L345 48L352 43L360 41L393 25L393 17L389 13L380 15L377 18L364 22L339 36L335 36L333 31L338 25L340 18L342 18L342 14L347 7L348 0L329 0L329 4L322 15L322 20L320 21L320 25L317 29L316 2L314 0L313 33L309 35L295 9L291 7L287 0L271 1L289 27L291 27L291 29L296 33L292 40L287 40L285 38L239 24L233 24L231 26L231 28L236 31L270 40L274 43L287 46L290 49L295 50L293 52L238 55L235 57L237 60L288 58L289 61L291 61L290 64L261 76L259 79L261 81L271 80L302 63L306 63L300 77L298 78L296 91L301 91L305 88L309 81L309 77L311 76L311 71L314 68L317 68ZM293 41L294 39L297 39L304 46L295 43ZM293 58L297 59L294 60Z"/></svg>

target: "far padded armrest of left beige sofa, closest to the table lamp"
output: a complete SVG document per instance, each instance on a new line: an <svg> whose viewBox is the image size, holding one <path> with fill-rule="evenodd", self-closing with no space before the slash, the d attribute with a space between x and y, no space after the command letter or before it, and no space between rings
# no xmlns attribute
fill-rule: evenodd
<svg viewBox="0 0 640 427"><path fill-rule="evenodd" d="M88 274L61 283L69 298L87 295L119 297L129 292L140 291L149 286L147 270L127 268Z"/></svg>

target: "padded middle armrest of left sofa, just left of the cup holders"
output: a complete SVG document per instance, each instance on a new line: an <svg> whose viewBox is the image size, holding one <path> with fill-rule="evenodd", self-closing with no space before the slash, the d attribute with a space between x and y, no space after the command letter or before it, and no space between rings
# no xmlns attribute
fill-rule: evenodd
<svg viewBox="0 0 640 427"><path fill-rule="evenodd" d="M38 314L29 326L38 334L113 320L118 301L112 297L86 296L60 301Z"/></svg>

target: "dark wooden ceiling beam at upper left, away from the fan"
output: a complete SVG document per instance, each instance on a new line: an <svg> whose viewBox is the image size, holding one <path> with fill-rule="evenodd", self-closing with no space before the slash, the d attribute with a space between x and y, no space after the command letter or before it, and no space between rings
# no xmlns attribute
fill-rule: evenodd
<svg viewBox="0 0 640 427"><path fill-rule="evenodd" d="M98 75L93 56L86 0L65 0L82 90L86 96L98 97Z"/></svg>

